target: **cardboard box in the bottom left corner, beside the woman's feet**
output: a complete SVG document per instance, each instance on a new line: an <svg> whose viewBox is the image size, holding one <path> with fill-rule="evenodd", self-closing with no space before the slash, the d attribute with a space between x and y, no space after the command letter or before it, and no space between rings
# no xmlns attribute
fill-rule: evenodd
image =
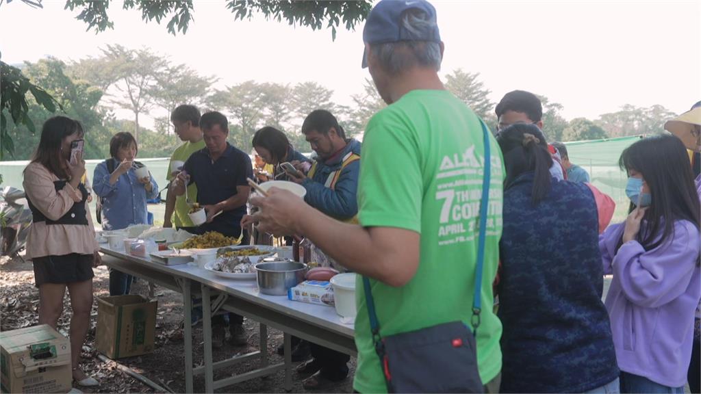
<svg viewBox="0 0 701 394"><path fill-rule="evenodd" d="M49 325L0 332L2 393L67 393L70 341Z"/></svg>

